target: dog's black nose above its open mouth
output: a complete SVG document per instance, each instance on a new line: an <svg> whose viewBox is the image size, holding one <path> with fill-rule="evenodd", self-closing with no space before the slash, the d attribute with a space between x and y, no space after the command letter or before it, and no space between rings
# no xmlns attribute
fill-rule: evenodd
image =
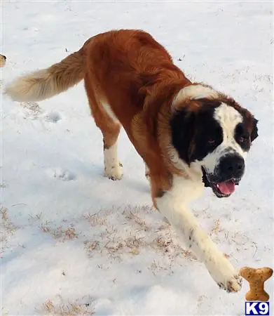
<svg viewBox="0 0 274 316"><path fill-rule="evenodd" d="M245 171L245 160L238 154L230 154L221 158L219 170L226 178L240 178Z"/></svg>

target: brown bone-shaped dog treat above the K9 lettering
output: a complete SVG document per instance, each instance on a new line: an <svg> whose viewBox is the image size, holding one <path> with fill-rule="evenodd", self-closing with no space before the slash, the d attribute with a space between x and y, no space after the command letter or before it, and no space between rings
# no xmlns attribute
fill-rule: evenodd
<svg viewBox="0 0 274 316"><path fill-rule="evenodd" d="M250 290L245 294L247 301L268 301L269 295L264 291L264 282L273 275L271 268L249 268L240 269L240 275L249 282Z"/></svg>

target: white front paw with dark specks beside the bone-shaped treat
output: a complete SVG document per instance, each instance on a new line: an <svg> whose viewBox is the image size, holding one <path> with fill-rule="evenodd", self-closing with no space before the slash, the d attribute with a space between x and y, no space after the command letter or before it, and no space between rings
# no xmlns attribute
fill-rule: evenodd
<svg viewBox="0 0 274 316"><path fill-rule="evenodd" d="M210 260L211 259L211 260ZM242 287L242 277L233 268L233 265L226 259L224 254L219 253L206 261L207 269L220 289L228 293L238 292Z"/></svg>

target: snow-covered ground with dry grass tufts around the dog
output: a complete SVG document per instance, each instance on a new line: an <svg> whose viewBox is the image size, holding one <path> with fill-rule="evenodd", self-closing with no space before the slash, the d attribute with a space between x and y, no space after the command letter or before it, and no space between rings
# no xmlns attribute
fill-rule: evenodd
<svg viewBox="0 0 274 316"><path fill-rule="evenodd" d="M141 28L191 79L252 110L259 138L242 183L229 199L207 189L193 212L235 265L273 267L271 2L1 1L1 10L2 88L99 32ZM220 291L151 208L125 133L125 176L103 177L82 84L39 104L2 96L1 110L1 315L244 315L247 283Z"/></svg>

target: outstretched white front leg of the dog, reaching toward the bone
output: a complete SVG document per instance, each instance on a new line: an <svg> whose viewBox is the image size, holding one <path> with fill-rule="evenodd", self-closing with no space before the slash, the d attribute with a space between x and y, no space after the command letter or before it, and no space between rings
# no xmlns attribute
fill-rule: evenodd
<svg viewBox="0 0 274 316"><path fill-rule="evenodd" d="M156 206L170 224L177 229L184 242L202 261L215 282L228 292L237 292L241 288L241 278L238 271L228 261L224 254L217 249L212 239L203 232L198 222L184 205L181 197L170 190L162 192L155 198ZM183 192L181 192L183 193Z"/></svg>

